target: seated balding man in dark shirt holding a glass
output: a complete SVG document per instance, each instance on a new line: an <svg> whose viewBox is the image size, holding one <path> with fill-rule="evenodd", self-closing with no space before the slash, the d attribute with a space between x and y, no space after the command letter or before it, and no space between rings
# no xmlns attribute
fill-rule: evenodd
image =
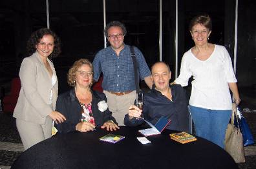
<svg viewBox="0 0 256 169"><path fill-rule="evenodd" d="M180 85L169 85L171 71L164 62L155 63L151 68L151 74L154 85L149 93L144 94L143 109L131 105L129 114L125 115L124 124L137 126L144 123L143 119L136 119L140 115L152 124L160 117L166 117L171 119L167 129L189 132L186 91Z"/></svg>

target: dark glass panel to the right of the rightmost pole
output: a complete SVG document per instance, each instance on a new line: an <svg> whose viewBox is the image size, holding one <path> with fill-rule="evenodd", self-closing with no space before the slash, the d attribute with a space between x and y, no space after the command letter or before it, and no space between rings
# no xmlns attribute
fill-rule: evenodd
<svg viewBox="0 0 256 169"><path fill-rule="evenodd" d="M256 2L241 1L238 17L237 78L240 86L256 88ZM256 96L255 96L256 97Z"/></svg>

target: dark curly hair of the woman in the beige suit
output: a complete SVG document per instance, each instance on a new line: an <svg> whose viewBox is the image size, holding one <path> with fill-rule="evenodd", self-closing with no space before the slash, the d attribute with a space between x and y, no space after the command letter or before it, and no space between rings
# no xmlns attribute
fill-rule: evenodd
<svg viewBox="0 0 256 169"><path fill-rule="evenodd" d="M32 55L34 54L34 52L36 52L36 45L40 42L44 35L52 35L52 37L54 38L54 50L52 51L52 54L49 55L49 58L57 57L61 53L61 41L58 35L56 35L52 30L48 28L41 28L33 32L30 38L28 39L28 55Z"/></svg>

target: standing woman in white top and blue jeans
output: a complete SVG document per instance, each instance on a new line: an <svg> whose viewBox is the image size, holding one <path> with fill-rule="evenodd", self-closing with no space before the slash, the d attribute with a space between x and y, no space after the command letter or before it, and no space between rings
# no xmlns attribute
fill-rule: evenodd
<svg viewBox="0 0 256 169"><path fill-rule="evenodd" d="M224 148L232 109L229 89L235 103L240 103L231 58L224 46L208 43L211 34L208 15L194 17L189 31L195 46L183 55L175 83L187 86L193 76L189 110L196 134Z"/></svg>

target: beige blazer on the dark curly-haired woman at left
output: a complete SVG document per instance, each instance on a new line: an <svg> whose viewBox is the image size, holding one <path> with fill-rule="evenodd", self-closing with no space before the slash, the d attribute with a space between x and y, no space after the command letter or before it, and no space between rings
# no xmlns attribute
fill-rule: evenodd
<svg viewBox="0 0 256 169"><path fill-rule="evenodd" d="M53 74L56 75L54 65L49 59L47 61ZM45 124L45 118L56 107L58 81L52 88L52 77L50 77L37 52L23 59L19 77L21 79L21 90L13 116L24 121ZM52 105L48 104L51 90Z"/></svg>

